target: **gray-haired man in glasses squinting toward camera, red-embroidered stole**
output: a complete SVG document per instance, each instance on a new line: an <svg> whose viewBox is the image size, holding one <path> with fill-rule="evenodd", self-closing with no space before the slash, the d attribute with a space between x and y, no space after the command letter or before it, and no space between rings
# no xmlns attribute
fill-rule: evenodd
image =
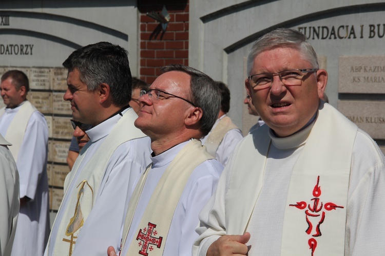
<svg viewBox="0 0 385 256"><path fill-rule="evenodd" d="M200 213L194 255L383 255L385 157L320 100L328 73L296 30L248 55L245 86L266 125L237 146Z"/></svg>

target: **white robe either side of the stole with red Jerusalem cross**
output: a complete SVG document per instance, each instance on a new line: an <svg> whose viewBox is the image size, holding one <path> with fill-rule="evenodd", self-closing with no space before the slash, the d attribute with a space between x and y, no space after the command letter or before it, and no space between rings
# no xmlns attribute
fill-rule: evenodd
<svg viewBox="0 0 385 256"><path fill-rule="evenodd" d="M127 246L123 247L121 255L127 254L130 242L137 238L136 230L138 229L139 222L163 173L187 143L181 143L158 156L151 157L153 165L149 169L131 227L128 231ZM172 217L163 255L191 254L192 243L198 237L198 234L195 232L195 228L199 223L198 214L214 193L222 169L223 166L218 161L211 159L204 161L192 171ZM183 172L183 170L180 171ZM139 243L140 241L138 241ZM147 252L148 255L151 255L150 250Z"/></svg>

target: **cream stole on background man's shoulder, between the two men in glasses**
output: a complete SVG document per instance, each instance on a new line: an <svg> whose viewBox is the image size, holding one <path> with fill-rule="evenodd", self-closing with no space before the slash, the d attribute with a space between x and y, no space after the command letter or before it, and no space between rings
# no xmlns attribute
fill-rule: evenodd
<svg viewBox="0 0 385 256"><path fill-rule="evenodd" d="M207 152L210 153L211 156L216 156L218 146L221 144L223 137L228 131L233 129L239 128L228 116L225 116L219 120L213 131L211 131L208 135L206 142L204 143L207 148Z"/></svg>

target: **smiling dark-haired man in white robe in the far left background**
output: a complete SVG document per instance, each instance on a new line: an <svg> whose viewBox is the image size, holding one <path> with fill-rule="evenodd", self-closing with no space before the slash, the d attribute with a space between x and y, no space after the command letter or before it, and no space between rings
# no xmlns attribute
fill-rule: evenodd
<svg viewBox="0 0 385 256"><path fill-rule="evenodd" d="M5 108L0 110L0 134L20 176L20 214L12 255L42 255L49 234L48 126L43 114L26 99L26 74L10 70L1 78Z"/></svg>

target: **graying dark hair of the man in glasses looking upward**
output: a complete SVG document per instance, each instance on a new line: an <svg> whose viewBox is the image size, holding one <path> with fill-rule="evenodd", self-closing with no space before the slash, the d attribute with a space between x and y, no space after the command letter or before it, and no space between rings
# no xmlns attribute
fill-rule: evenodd
<svg viewBox="0 0 385 256"><path fill-rule="evenodd" d="M203 115L199 123L202 136L211 131L218 118L221 94L215 81L203 72L180 64L172 64L161 69L163 73L170 71L181 71L191 76L189 101L202 109Z"/></svg>

